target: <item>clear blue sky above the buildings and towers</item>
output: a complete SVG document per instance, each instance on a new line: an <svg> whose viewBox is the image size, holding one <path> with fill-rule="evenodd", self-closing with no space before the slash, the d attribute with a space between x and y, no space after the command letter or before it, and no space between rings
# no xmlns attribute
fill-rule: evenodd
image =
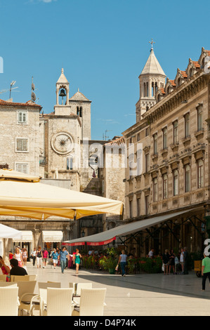
<svg viewBox="0 0 210 330"><path fill-rule="evenodd" d="M119 136L136 122L138 76L151 38L169 79L210 49L209 1L0 0L0 91L15 80L14 102L30 99L34 77L44 113L55 105L61 68L92 101L92 139ZM9 93L0 94L8 99Z"/></svg>

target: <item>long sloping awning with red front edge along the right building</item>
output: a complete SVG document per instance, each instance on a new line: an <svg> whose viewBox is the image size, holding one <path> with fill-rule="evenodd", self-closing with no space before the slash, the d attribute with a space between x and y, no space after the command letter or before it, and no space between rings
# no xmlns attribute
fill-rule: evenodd
<svg viewBox="0 0 210 330"><path fill-rule="evenodd" d="M78 239L72 239L70 241L63 242L63 245L70 245L70 246L79 246L85 244L91 246L106 245L114 241L114 239L116 239L117 237L123 237L126 235L130 235L134 232L140 232L145 228L152 227L153 225L158 225L159 223L163 223L166 220L176 218L190 211L192 210L168 213L166 215L155 216L145 220L138 220L133 223L127 223L126 225L120 225L118 227L114 227L110 230L106 230L105 232L99 232L96 235L81 237Z"/></svg>

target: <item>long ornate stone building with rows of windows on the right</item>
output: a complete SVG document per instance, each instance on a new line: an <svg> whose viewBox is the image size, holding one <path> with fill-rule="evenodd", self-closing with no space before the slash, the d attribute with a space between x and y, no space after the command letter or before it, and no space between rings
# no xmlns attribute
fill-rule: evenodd
<svg viewBox="0 0 210 330"><path fill-rule="evenodd" d="M133 175L128 158L126 221L186 212L140 232L138 253L141 256L145 256L151 247L155 248L155 253L162 253L166 248L178 250L181 246L197 252L204 247L210 202L210 79L205 65L209 55L210 51L202 48L199 59L189 59L186 70L178 69L173 80L166 78L165 84L163 81L157 84L152 96L153 105L151 95L145 100L140 93L136 124L124 132L127 147L129 143L134 146L133 161L137 166ZM154 58L153 62L156 62ZM149 81L153 81L152 67L155 65L147 70ZM144 75L140 75L140 91L143 78ZM142 101L146 111L140 106ZM142 168L138 169L136 150L139 144Z"/></svg>

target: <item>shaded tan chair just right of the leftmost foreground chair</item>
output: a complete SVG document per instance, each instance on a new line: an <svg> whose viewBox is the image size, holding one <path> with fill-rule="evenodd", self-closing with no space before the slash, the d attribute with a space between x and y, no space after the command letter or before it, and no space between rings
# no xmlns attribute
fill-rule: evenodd
<svg viewBox="0 0 210 330"><path fill-rule="evenodd" d="M32 315L33 310L39 310L39 303L36 303L34 300L34 297L37 296L37 294L34 294L36 284L37 281L18 282L18 296L20 301L19 315L22 310L27 310L29 315Z"/></svg>

